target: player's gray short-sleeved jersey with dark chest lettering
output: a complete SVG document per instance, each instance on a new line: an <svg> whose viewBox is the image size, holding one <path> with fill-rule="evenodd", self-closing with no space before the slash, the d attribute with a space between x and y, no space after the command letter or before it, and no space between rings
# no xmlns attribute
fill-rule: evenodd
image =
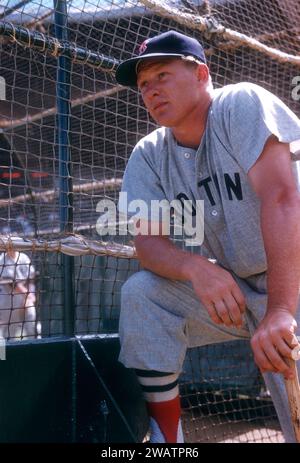
<svg viewBox="0 0 300 463"><path fill-rule="evenodd" d="M247 173L272 134L284 143L300 139L300 120L279 98L248 82L214 90L199 148L179 146L168 128L155 130L134 148L122 191L149 210L154 199L204 200L202 253L240 278L261 274L260 202ZM122 201L119 210L127 213Z"/></svg>

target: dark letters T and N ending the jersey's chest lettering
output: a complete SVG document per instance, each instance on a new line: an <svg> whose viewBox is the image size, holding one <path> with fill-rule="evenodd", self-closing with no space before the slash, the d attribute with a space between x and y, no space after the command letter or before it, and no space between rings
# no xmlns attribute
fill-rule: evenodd
<svg viewBox="0 0 300 463"><path fill-rule="evenodd" d="M238 172L234 173L234 178L230 176L230 174L223 174L224 176L224 184L226 187L226 192L228 199L230 201L233 201L234 199L237 199L238 201L242 201L243 199L243 191L242 191L242 184L241 184L241 177ZM213 183L212 183L213 182ZM206 177L198 182L198 187L199 188L204 188L206 196L211 204L211 206L216 205L216 201L213 195L212 191L212 184L215 185L216 190L221 197L221 189L219 185L219 180L216 175L213 175L212 177Z"/></svg>

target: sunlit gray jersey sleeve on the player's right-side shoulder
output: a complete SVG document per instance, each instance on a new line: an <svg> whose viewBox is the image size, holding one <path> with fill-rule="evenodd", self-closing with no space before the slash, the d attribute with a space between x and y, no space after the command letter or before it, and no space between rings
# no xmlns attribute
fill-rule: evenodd
<svg viewBox="0 0 300 463"><path fill-rule="evenodd" d="M225 104L223 124L233 156L248 172L271 135L282 143L300 139L300 120L264 88L250 83L234 87Z"/></svg>

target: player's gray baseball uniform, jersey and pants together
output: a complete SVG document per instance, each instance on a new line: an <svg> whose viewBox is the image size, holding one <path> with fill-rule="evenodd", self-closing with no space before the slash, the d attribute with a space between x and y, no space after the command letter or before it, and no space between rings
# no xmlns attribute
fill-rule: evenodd
<svg viewBox="0 0 300 463"><path fill-rule="evenodd" d="M150 208L153 199L204 200L204 243L197 252L232 273L247 313L242 330L215 325L190 283L139 272L122 290L120 361L125 366L180 371L187 347L247 338L255 330L266 308L267 262L260 203L247 173L272 134L284 143L300 139L300 120L267 90L239 83L214 91L198 150L179 146L168 128L136 145L122 187L128 202L142 199ZM119 210L128 213L122 201ZM286 440L293 441L282 378L268 374L265 380Z"/></svg>

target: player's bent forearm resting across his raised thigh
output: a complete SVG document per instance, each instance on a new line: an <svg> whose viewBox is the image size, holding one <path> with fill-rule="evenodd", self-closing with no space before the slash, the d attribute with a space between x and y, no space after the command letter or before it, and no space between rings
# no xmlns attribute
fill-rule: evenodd
<svg viewBox="0 0 300 463"><path fill-rule="evenodd" d="M191 280L196 261L198 269L206 261L202 256L178 249L166 237L136 237L135 246L144 268L171 280Z"/></svg>

